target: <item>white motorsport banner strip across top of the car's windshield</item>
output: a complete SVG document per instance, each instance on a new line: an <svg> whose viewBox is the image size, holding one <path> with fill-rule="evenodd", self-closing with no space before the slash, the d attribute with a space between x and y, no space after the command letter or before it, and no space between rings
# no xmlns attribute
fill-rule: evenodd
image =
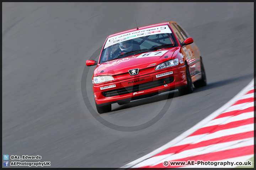
<svg viewBox="0 0 256 170"><path fill-rule="evenodd" d="M112 36L107 39L104 49L122 41L131 40L131 39L143 37L146 35L163 34L163 33L172 33L169 26L165 25L165 26L151 27L151 28L146 28L142 30L136 30L133 32L125 33L125 34Z"/></svg>

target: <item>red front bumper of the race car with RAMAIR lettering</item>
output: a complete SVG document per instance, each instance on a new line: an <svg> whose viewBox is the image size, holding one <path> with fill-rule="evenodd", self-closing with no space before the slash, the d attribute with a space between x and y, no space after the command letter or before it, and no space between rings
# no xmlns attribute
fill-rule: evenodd
<svg viewBox="0 0 256 170"><path fill-rule="evenodd" d="M112 83L94 85L94 98L96 103L102 106L122 100L132 101L154 96L185 85L187 85L186 67L180 66Z"/></svg>

